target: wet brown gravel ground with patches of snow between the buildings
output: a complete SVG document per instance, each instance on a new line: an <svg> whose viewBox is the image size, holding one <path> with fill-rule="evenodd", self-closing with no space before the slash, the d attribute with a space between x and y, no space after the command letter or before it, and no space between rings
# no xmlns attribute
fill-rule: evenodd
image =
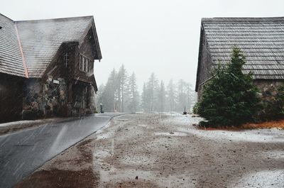
<svg viewBox="0 0 284 188"><path fill-rule="evenodd" d="M201 119L130 114L16 187L284 187L284 131L204 131Z"/></svg>

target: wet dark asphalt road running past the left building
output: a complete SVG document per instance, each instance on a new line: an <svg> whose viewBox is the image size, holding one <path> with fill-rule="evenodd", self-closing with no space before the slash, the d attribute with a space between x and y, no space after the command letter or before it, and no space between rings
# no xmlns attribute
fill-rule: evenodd
<svg viewBox="0 0 284 188"><path fill-rule="evenodd" d="M55 155L107 125L116 115L94 114L0 136L0 187L13 187Z"/></svg>

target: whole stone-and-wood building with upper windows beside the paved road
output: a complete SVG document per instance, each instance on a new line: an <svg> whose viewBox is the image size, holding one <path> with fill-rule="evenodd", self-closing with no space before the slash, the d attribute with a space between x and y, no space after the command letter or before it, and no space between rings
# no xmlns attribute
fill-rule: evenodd
<svg viewBox="0 0 284 188"><path fill-rule="evenodd" d="M93 16L13 21L0 14L0 121L95 111Z"/></svg>

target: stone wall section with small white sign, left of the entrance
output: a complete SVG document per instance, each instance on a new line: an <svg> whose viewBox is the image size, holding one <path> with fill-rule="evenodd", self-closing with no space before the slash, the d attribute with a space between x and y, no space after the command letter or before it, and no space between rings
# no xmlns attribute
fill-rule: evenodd
<svg viewBox="0 0 284 188"><path fill-rule="evenodd" d="M65 79L26 79L23 85L23 119L62 116L67 110Z"/></svg>

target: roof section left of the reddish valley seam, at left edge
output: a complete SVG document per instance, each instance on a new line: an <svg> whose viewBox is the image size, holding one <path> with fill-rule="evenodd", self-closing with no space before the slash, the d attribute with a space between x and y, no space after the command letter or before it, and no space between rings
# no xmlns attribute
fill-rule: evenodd
<svg viewBox="0 0 284 188"><path fill-rule="evenodd" d="M25 77L15 24L0 13L0 72Z"/></svg>

